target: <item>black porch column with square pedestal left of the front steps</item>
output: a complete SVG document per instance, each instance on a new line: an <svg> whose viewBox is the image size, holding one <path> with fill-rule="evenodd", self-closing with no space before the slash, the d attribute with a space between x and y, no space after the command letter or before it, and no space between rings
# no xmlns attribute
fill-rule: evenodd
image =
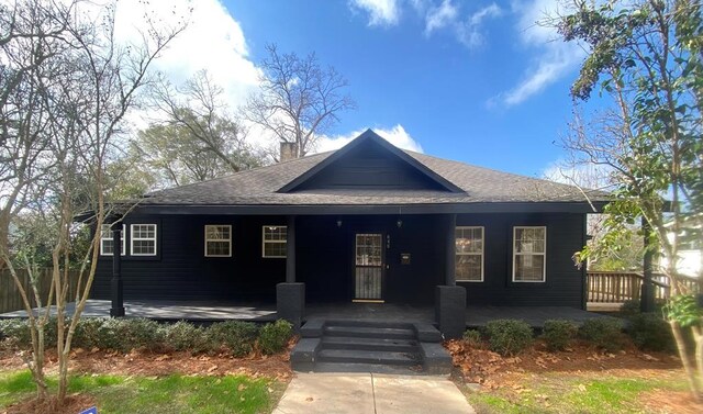
<svg viewBox="0 0 703 414"><path fill-rule="evenodd" d="M295 282L295 216L288 216L286 238L286 282L276 286L276 313L300 329L305 313L305 283Z"/></svg>

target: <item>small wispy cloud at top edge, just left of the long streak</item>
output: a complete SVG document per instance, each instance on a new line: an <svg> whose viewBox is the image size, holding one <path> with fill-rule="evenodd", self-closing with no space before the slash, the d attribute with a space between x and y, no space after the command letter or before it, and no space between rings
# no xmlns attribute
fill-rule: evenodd
<svg viewBox="0 0 703 414"><path fill-rule="evenodd" d="M415 10L421 14L425 12L425 9L416 8ZM451 3L451 0L444 0L437 7L426 8L424 33L425 36L429 36L434 32L447 29L454 33L458 42L473 49L484 43L482 23L486 19L498 18L501 14L501 8L491 3L462 20L458 8Z"/></svg>

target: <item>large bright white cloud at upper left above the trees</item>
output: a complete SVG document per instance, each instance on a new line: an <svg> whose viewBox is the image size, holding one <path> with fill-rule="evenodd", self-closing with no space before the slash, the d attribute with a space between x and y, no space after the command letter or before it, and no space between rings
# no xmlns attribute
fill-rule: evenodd
<svg viewBox="0 0 703 414"><path fill-rule="evenodd" d="M94 8L102 10L100 4ZM99 13L89 10L88 14ZM223 98L231 110L243 104L257 88L259 69L248 57L244 32L219 0L118 1L115 38L142 44L142 33L149 27L147 16L157 27L188 22L152 66L174 85L182 85L197 71L208 69L214 82L224 89ZM143 110L129 116L129 121L135 127L146 127L150 120L159 118L153 110Z"/></svg>

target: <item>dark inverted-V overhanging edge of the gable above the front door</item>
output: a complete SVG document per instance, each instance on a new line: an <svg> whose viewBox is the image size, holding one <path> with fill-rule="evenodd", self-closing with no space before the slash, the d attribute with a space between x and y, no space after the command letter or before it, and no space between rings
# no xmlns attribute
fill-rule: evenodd
<svg viewBox="0 0 703 414"><path fill-rule="evenodd" d="M349 144L345 145L343 148L334 152L328 157L317 163L314 167L310 168L308 171L300 175L300 177L295 178L291 182L283 186L278 192L292 192L297 189L301 188L305 182L309 182L312 178L324 174L326 169L330 169L335 163L344 159L349 156L354 149L362 146L369 145L369 143L373 143L381 148L383 148L388 155L395 156L400 158L402 161L406 163L411 168L415 169L417 172L426 177L428 180L436 183L442 189L448 192L464 192L459 187L455 186L453 182L448 181L444 177L439 176L432 169L427 168L422 163L419 163L415 158L410 155L403 153L400 148L393 146L388 141L381 138L377 133L371 130L366 130L361 135L356 137Z"/></svg>

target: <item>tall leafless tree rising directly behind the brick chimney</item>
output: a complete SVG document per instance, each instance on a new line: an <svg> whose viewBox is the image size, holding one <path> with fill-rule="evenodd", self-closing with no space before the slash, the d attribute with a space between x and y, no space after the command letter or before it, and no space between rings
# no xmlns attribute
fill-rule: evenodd
<svg viewBox="0 0 703 414"><path fill-rule="evenodd" d="M276 45L266 48L260 90L249 97L244 116L279 141L295 144L302 157L356 103L345 91L347 80L335 68L321 67L314 54L302 58L279 54Z"/></svg>

